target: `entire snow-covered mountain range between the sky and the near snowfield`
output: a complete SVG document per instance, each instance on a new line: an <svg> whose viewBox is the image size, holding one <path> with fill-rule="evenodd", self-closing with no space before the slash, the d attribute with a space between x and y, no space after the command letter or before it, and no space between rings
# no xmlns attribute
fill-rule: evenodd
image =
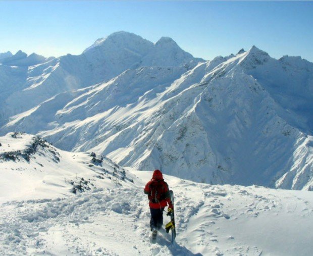
<svg viewBox="0 0 313 256"><path fill-rule="evenodd" d="M312 189L313 64L300 57L253 46L203 62L171 38L118 32L25 78L6 68L2 134L198 182Z"/></svg>

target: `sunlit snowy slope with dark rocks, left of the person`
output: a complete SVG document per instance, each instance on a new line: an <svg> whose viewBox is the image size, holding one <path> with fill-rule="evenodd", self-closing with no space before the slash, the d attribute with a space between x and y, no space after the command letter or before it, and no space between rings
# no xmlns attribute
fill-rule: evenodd
<svg viewBox="0 0 313 256"><path fill-rule="evenodd" d="M94 153L66 152L25 133L8 133L0 143L0 202L68 196L133 182L124 169Z"/></svg>

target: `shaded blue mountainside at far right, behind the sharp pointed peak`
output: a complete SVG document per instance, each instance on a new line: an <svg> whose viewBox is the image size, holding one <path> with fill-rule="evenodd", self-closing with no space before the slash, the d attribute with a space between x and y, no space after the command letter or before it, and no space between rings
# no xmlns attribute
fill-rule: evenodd
<svg viewBox="0 0 313 256"><path fill-rule="evenodd" d="M279 104L287 122L306 134L313 133L313 63L301 57L279 60L253 46L244 66Z"/></svg>

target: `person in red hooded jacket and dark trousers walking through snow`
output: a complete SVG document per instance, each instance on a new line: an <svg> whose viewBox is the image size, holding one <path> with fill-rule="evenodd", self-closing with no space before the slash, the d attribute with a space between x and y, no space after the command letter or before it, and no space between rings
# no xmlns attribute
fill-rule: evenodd
<svg viewBox="0 0 313 256"><path fill-rule="evenodd" d="M155 170L153 172L152 179L145 185L143 191L149 198L151 231L159 230L163 225L164 208L169 205L168 212L173 211L169 186L164 181L160 170Z"/></svg>

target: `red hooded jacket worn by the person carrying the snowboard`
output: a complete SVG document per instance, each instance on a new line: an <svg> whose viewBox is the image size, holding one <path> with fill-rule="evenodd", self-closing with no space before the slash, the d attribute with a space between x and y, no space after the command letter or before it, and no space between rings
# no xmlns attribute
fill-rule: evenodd
<svg viewBox="0 0 313 256"><path fill-rule="evenodd" d="M152 209L162 209L168 204L170 208L173 208L173 204L170 197L170 190L168 184L164 181L161 171L155 170L153 172L152 179L145 185L144 193L148 195L149 207ZM155 200L152 196L152 186L157 184L158 186L158 200Z"/></svg>

